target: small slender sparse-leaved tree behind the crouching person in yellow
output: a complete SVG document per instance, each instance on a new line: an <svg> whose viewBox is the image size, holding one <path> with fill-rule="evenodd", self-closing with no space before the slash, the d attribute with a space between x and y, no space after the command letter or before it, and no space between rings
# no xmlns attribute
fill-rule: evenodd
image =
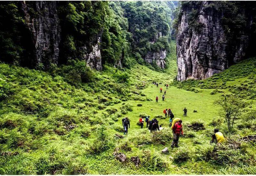
<svg viewBox="0 0 256 176"><path fill-rule="evenodd" d="M213 104L221 107L220 116L224 117L228 131L232 131L233 125L237 117L241 114L241 108L245 103L237 99L234 95L221 95L219 99L214 100Z"/></svg>

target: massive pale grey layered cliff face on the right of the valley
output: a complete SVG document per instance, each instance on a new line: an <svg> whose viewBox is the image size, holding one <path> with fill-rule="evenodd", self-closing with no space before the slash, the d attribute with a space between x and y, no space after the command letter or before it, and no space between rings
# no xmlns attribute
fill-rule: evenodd
<svg viewBox="0 0 256 176"><path fill-rule="evenodd" d="M245 58L249 35L241 31L236 42L230 41L221 24L223 12L209 8L213 3L203 1L194 7L198 11L194 23L200 25L199 29L189 25L191 6L181 7L177 32L178 81L208 78Z"/></svg>

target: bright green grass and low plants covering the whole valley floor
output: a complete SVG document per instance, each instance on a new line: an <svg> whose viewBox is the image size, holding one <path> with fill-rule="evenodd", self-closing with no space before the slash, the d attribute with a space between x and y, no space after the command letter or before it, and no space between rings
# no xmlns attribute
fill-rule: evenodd
<svg viewBox="0 0 256 176"><path fill-rule="evenodd" d="M250 66L254 60L246 60L241 67L238 64L238 68L232 66L217 78L175 83L168 87L162 101L160 87L166 90L164 84L171 84L177 72L174 42L171 44L172 54L168 56L168 68L164 71L139 64L124 71L105 66L103 72L90 72L89 82L76 82L75 79L86 75L86 69L70 75L74 70L68 66L43 72L0 64L0 173L255 173L254 143L242 142L238 150L228 148L227 144L218 147L209 143L214 128L219 128L228 142L255 134L253 102L243 110L234 134L227 132L223 119L217 121L219 107L212 104L221 91L232 93L235 90L229 90L229 85L254 80L254 75L247 70L254 69ZM83 63L75 63L77 67L81 65ZM242 70L243 74L225 81L225 86L218 87L221 91L211 95L216 89L213 83L222 85L222 79L228 75L232 77L237 70ZM163 84L157 88L153 81ZM198 83L210 85L201 87ZM193 88L192 84L197 93L185 90ZM249 85L252 84L246 87ZM188 109L187 117L183 117L184 107ZM146 123L143 129L137 125L141 113L152 119L164 115L164 108L171 108L175 118L183 120L184 136L180 138L179 148L170 148L172 131L168 118L158 119L164 127L158 133L148 132ZM131 120L131 128L124 139L118 139L114 135L123 134L122 118L126 116ZM251 119L251 125L245 124L243 119ZM204 122L205 130L196 132L187 127L195 120ZM165 147L169 148L169 153L162 154ZM214 147L217 147L215 152ZM128 157L126 163L115 159L115 148ZM140 157L139 167L130 161L132 156Z"/></svg>

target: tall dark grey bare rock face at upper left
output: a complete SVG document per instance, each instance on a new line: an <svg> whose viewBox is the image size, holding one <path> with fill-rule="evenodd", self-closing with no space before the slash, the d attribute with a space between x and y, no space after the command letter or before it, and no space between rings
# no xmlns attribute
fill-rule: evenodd
<svg viewBox="0 0 256 176"><path fill-rule="evenodd" d="M33 47L32 65L58 63L60 23L56 1L22 1L21 10L31 34Z"/></svg>

